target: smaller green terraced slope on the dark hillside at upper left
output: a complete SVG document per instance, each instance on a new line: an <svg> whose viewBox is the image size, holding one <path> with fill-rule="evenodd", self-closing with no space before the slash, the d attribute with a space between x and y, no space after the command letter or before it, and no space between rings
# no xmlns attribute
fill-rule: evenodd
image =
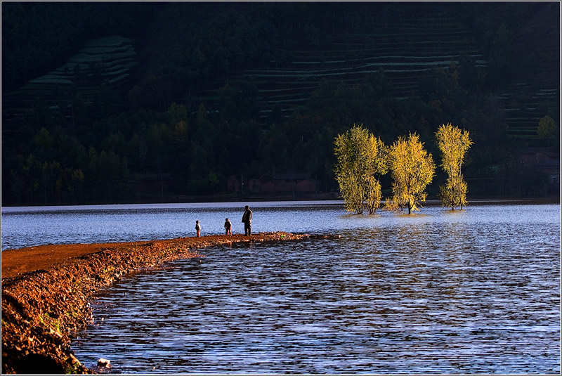
<svg viewBox="0 0 562 376"><path fill-rule="evenodd" d="M87 41L62 67L4 95L2 120L10 124L21 118L37 98L63 114L72 112L76 96L93 101L107 89L119 90L129 82L130 72L136 66L138 60L131 39L114 35Z"/></svg>

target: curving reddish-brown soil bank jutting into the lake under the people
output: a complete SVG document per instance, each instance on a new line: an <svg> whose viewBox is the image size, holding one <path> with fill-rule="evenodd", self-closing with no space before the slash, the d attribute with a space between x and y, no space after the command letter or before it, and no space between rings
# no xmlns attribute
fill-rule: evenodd
<svg viewBox="0 0 562 376"><path fill-rule="evenodd" d="M7 249L1 254L2 373L93 373L70 349L70 331L91 320L93 292L124 273L201 257L197 248L209 245L308 238L278 232Z"/></svg>

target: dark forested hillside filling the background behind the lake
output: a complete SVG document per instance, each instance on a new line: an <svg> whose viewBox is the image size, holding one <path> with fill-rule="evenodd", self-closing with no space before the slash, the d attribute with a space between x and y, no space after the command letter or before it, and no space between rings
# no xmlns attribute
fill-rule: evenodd
<svg viewBox="0 0 562 376"><path fill-rule="evenodd" d="M469 199L558 194L512 158L559 153L556 2L1 6L3 206L237 199L230 176L295 173L325 197L353 124L433 155L440 125L466 129Z"/></svg>

